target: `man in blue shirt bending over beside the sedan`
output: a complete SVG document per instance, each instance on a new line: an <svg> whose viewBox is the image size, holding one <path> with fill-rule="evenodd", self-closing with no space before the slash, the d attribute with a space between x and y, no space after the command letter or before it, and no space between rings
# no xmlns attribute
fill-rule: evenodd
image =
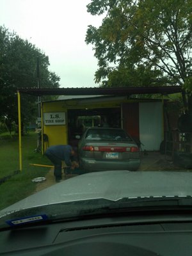
<svg viewBox="0 0 192 256"><path fill-rule="evenodd" d="M56 182L60 182L62 179L62 161L65 161L67 167L72 170L79 167L79 164L74 161L75 155L76 152L70 145L55 145L47 148L45 156L47 156L47 158L54 164L54 176Z"/></svg>

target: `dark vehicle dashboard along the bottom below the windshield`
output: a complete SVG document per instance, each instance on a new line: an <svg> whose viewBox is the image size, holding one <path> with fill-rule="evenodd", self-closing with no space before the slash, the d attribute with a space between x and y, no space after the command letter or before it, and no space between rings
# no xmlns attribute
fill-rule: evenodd
<svg viewBox="0 0 192 256"><path fill-rule="evenodd" d="M190 214L94 218L1 231L0 255L191 255Z"/></svg>

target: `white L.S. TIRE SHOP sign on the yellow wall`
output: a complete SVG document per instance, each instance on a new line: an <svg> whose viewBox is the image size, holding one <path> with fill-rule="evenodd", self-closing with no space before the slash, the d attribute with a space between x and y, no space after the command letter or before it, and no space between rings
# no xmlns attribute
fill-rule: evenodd
<svg viewBox="0 0 192 256"><path fill-rule="evenodd" d="M44 113L44 125L65 125L65 112Z"/></svg>

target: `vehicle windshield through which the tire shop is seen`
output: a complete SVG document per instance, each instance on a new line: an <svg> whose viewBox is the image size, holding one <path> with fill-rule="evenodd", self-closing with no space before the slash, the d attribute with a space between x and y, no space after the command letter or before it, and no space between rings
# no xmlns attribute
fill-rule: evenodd
<svg viewBox="0 0 192 256"><path fill-rule="evenodd" d="M191 10L1 0L0 228L191 206Z"/></svg>

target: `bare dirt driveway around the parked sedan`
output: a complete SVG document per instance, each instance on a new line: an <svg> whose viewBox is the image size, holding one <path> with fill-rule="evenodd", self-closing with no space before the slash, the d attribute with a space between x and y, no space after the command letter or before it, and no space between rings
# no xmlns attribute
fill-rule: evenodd
<svg viewBox="0 0 192 256"><path fill-rule="evenodd" d="M177 166L174 166L172 159L168 159L159 152L142 152L141 154L141 165L139 168L140 171L171 171L171 170L180 170ZM77 176L77 174L63 174L63 180L70 179L71 177ZM53 168L45 176L46 180L44 182L39 182L36 184L36 192L44 188L56 184Z"/></svg>

